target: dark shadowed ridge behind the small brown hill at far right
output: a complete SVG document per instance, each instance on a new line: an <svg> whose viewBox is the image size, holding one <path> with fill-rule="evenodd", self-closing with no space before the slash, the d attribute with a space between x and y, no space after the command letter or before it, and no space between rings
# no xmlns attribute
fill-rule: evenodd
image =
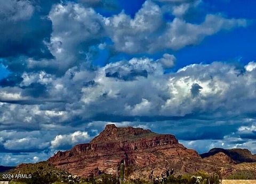
<svg viewBox="0 0 256 184"><path fill-rule="evenodd" d="M202 158L213 156L215 154L226 154L236 163L242 162L256 162L256 155L253 155L248 149L223 149L223 148L213 148L208 153L201 154Z"/></svg>

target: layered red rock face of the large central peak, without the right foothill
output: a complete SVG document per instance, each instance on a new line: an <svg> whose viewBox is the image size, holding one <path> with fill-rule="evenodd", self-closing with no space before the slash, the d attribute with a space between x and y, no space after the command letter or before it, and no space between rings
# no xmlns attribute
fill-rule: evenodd
<svg viewBox="0 0 256 184"><path fill-rule="evenodd" d="M90 143L76 145L66 152L59 151L48 162L82 177L102 172L114 174L117 165L124 162L126 167L133 168L135 176L136 171L143 173L145 170L147 175L149 171L146 170L153 168L160 174L167 166L178 166L177 169L182 170L183 162L189 159L201 157L195 150L179 144L173 135L159 135L141 128L117 128L110 124Z"/></svg>

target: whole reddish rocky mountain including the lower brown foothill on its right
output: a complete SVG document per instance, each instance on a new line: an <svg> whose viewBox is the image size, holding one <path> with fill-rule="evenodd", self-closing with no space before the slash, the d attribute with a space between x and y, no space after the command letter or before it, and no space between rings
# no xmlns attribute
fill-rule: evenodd
<svg viewBox="0 0 256 184"><path fill-rule="evenodd" d="M80 177L115 174L117 166L124 163L131 178L147 179L152 171L154 175L161 175L167 169L174 169L177 175L199 170L208 173L222 170L229 174L236 167L237 160L233 158L226 152L199 155L179 144L173 135L109 124L90 143L59 151L47 162Z"/></svg>

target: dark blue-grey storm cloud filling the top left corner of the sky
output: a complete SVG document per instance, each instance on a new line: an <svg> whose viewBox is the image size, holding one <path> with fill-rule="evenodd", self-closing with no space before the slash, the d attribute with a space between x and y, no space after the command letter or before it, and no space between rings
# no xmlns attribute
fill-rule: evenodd
<svg viewBox="0 0 256 184"><path fill-rule="evenodd" d="M59 1L0 1L0 57L26 55L51 58L44 44L49 40L52 24L47 15Z"/></svg>

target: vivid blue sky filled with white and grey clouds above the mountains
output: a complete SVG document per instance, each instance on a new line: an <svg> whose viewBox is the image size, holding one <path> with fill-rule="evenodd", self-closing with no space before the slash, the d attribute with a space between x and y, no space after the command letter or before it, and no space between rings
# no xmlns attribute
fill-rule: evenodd
<svg viewBox="0 0 256 184"><path fill-rule="evenodd" d="M108 123L256 153L256 2L0 0L0 165Z"/></svg>

